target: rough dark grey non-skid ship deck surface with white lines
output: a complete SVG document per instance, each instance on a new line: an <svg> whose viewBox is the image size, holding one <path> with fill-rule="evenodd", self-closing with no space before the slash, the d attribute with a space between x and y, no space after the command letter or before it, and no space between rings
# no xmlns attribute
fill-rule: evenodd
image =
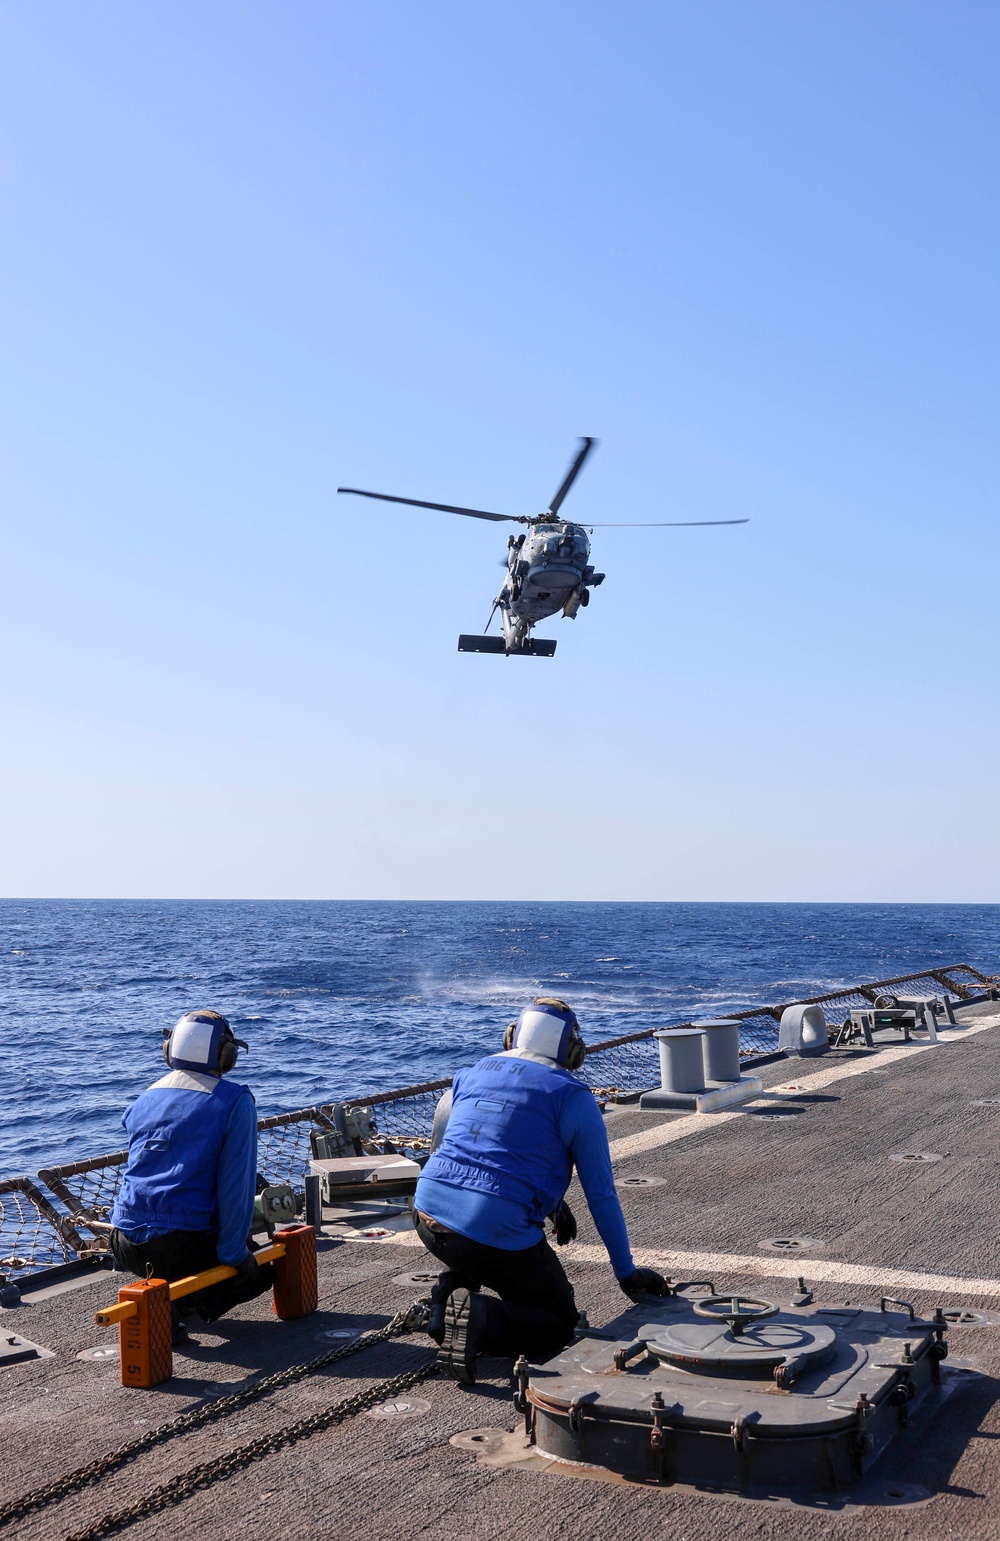
<svg viewBox="0 0 1000 1541"><path fill-rule="evenodd" d="M994 1008L995 1011L995 1008ZM971 1014L972 1016L972 1014ZM983 1017L971 1022L982 1026ZM764 1076L770 1086L801 1082L852 1056L784 1062ZM880 1063L881 1060L881 1063ZM807 1234L824 1242L824 1267L863 1265L915 1273L1000 1279L997 1224L997 1139L1000 1136L1000 1028L958 1032L940 1048L903 1057L874 1054L861 1074L807 1093L772 1096L720 1119L689 1120L683 1139L653 1145L616 1163L630 1174L666 1179L659 1187L622 1188L636 1254L661 1250L738 1254L718 1273L720 1288L743 1288L787 1299L786 1276L758 1270L769 1256L761 1242ZM975 1106L985 1099L995 1106ZM644 1130L676 1126L676 1119L638 1111L609 1116L613 1143ZM898 1163L901 1151L929 1151L934 1163ZM569 1261L578 1301L592 1325L626 1305L598 1242L582 1196L570 1194L581 1220L579 1254ZM176 1378L154 1392L119 1385L117 1362L85 1362L76 1355L112 1344L114 1333L92 1324L92 1311L114 1299L116 1279L100 1274L72 1291L0 1313L0 1327L54 1350L55 1356L0 1371L0 1496L8 1499L100 1455L176 1412L260 1373L311 1358L330 1347L322 1333L381 1325L414 1296L394 1274L425 1267L424 1253L402 1242L325 1245L320 1256L320 1311L302 1322L276 1322L267 1301L219 1322L191 1353L177 1355ZM775 1265L778 1267L778 1265ZM783 1259L781 1267L787 1270ZM801 1271L809 1277L809 1261ZM849 1270L846 1270L849 1271ZM877 1287L826 1282L831 1302L872 1301ZM898 1288L888 1290L898 1294ZM995 1291L908 1293L918 1310L940 1304L1000 1313ZM809 1541L835 1530L861 1538L995 1538L1000 1535L1000 1327L955 1328L952 1356L977 1375L957 1376L957 1390L934 1421L909 1430L877 1469L880 1490L892 1482L923 1484L929 1501L900 1507L824 1512L726 1499L687 1490L567 1476L558 1472L493 1469L448 1442L462 1430L513 1429L510 1367L482 1364L482 1379L464 1390L431 1379L411 1398L430 1408L416 1416L356 1416L341 1425L237 1470L163 1513L139 1519L129 1541L154 1536L458 1538L567 1536L632 1538L669 1533L701 1541L743 1538ZM430 1344L419 1335L367 1350L284 1392L240 1410L223 1424L171 1439L129 1465L40 1515L8 1527L31 1538L65 1536L111 1509L133 1502L157 1484L247 1439L339 1401L362 1385L421 1362Z"/></svg>

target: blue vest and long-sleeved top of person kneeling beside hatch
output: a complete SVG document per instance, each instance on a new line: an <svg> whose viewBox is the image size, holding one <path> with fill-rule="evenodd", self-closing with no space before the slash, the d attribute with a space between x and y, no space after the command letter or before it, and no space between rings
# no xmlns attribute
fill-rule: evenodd
<svg viewBox="0 0 1000 1541"><path fill-rule="evenodd" d="M542 1239L573 1165L624 1279L635 1264L593 1093L556 1065L490 1054L455 1077L448 1126L414 1204L461 1236L521 1251Z"/></svg>

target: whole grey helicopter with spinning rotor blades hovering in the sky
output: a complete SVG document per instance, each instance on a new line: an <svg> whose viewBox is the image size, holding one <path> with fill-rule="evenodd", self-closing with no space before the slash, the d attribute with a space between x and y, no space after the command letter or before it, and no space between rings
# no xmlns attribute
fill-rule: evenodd
<svg viewBox="0 0 1000 1541"><path fill-rule="evenodd" d="M507 538L507 567L501 592L493 601L490 619L482 633L462 633L459 653L504 653L507 658L552 658L555 638L532 636L532 629L549 615L562 612L570 621L590 604L592 589L599 589L606 573L590 564L593 530L659 530L681 525L749 524L749 519L667 519L653 524L572 524L559 518L562 501L579 476L596 439L579 439L576 455L558 492L542 513L488 513L485 509L461 509L450 502L422 502L419 498L394 498L385 492L364 492L361 487L337 487L339 493L356 498L378 498L381 502L405 502L411 509L436 509L461 513L470 519L493 519L498 524L525 524L522 535ZM493 616L499 610L501 636L488 636Z"/></svg>

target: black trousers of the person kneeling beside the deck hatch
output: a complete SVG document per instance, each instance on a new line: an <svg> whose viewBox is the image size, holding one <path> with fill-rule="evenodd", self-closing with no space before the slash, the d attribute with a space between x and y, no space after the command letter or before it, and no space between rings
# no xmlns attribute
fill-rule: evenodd
<svg viewBox="0 0 1000 1541"><path fill-rule="evenodd" d="M444 1301L453 1290L485 1288L499 1294L499 1301L482 1296L487 1307L482 1353L525 1355L538 1362L565 1348L579 1311L573 1285L544 1237L524 1251L505 1251L431 1227L416 1213L413 1224L427 1251L445 1268L431 1301Z"/></svg>

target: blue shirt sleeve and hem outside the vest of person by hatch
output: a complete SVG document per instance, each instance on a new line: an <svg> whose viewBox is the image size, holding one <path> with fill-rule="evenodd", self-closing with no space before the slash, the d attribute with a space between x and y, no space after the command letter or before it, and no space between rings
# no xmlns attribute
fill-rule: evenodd
<svg viewBox="0 0 1000 1541"><path fill-rule="evenodd" d="M582 1082L578 1093L564 1099L559 1137L576 1167L587 1208L607 1247L612 1268L616 1277L626 1279L635 1264L615 1190L607 1130L593 1093ZM431 1177L421 1177L413 1202L450 1231L502 1251L535 1247L545 1234L544 1225L538 1224L527 1205Z"/></svg>

